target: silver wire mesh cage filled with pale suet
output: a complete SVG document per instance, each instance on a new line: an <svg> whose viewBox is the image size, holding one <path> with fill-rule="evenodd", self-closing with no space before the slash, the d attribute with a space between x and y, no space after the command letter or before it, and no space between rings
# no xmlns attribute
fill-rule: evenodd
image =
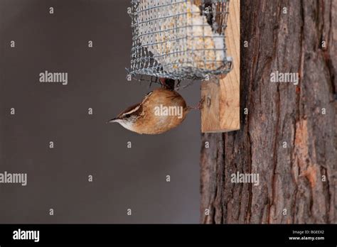
<svg viewBox="0 0 337 247"><path fill-rule="evenodd" d="M229 0L132 0L129 73L204 79L228 73Z"/></svg>

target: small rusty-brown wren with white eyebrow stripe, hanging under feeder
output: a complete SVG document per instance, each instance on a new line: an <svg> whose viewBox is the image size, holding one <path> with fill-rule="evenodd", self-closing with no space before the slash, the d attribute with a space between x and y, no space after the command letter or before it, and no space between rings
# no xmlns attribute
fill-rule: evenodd
<svg viewBox="0 0 337 247"><path fill-rule="evenodd" d="M178 92L158 88L146 94L141 103L130 106L107 123L118 123L140 134L159 134L181 124L190 109L194 108L186 106Z"/></svg>

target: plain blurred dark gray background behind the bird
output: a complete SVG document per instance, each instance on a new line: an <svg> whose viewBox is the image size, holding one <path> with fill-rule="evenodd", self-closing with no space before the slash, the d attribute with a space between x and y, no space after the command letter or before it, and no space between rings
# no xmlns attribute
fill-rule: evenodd
<svg viewBox="0 0 337 247"><path fill-rule="evenodd" d="M26 187L0 184L0 223L198 223L200 113L159 136L105 124L151 90L126 80L127 6L0 0L0 172L28 173ZM68 85L38 82L45 70ZM195 105L200 85L180 93Z"/></svg>

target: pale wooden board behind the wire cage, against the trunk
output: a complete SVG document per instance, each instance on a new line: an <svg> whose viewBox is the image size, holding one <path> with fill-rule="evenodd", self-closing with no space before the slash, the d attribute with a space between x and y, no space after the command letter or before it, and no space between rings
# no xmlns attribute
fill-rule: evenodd
<svg viewBox="0 0 337 247"><path fill-rule="evenodd" d="M203 133L240 129L240 0L230 1L225 36L233 68L228 75L201 83L201 97L205 99L201 110Z"/></svg>

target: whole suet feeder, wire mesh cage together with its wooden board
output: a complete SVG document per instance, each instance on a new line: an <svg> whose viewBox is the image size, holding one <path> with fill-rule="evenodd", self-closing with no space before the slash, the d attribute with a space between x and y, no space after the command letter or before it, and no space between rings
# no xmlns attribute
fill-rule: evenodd
<svg viewBox="0 0 337 247"><path fill-rule="evenodd" d="M132 0L131 16L130 74L202 79L202 131L239 129L240 1Z"/></svg>

